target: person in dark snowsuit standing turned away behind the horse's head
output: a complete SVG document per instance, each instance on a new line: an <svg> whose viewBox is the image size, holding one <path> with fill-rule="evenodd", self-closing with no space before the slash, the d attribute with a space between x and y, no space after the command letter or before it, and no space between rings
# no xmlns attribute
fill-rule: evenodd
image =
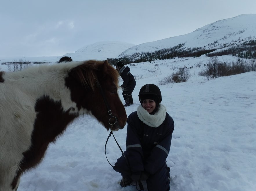
<svg viewBox="0 0 256 191"><path fill-rule="evenodd" d="M130 68L128 66L124 66L122 62L117 62L116 69L119 72L121 78L124 80L124 83L120 86L123 89L122 95L125 101L124 106L130 106L133 104L132 91L135 88L136 81L130 72Z"/></svg>

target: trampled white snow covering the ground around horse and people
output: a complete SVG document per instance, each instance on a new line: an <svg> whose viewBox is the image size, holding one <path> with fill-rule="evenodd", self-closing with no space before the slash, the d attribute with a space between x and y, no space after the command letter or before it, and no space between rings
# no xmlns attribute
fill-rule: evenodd
<svg viewBox="0 0 256 191"><path fill-rule="evenodd" d="M229 63L235 57L219 59ZM203 63L204 56L128 65L137 85L127 115L139 106L141 86L158 85L178 67L193 66L187 82L159 85L162 104L175 123L166 160L171 169L170 190L256 190L256 72L206 80L198 76ZM198 64L201 67L196 67ZM121 90L119 96L124 102ZM114 132L123 150L126 129ZM135 191L134 186L120 187L121 175L106 160L108 134L94 117L79 117L50 144L43 162L21 177L18 191ZM112 165L121 156L112 136L106 152Z"/></svg>

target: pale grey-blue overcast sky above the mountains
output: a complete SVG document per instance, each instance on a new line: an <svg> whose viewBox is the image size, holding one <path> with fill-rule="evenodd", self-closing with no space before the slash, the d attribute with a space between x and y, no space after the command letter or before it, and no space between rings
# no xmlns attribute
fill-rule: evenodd
<svg viewBox="0 0 256 191"><path fill-rule="evenodd" d="M101 41L137 45L240 14L256 14L256 1L1 1L0 56L62 56Z"/></svg>

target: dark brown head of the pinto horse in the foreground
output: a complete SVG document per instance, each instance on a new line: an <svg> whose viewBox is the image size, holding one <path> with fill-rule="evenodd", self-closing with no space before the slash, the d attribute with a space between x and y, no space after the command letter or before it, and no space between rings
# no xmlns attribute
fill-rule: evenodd
<svg viewBox="0 0 256 191"><path fill-rule="evenodd" d="M71 99L77 103L79 111L95 116L107 130L123 129L127 121L124 105L117 93L118 76L107 60L90 60L73 68L66 78Z"/></svg>

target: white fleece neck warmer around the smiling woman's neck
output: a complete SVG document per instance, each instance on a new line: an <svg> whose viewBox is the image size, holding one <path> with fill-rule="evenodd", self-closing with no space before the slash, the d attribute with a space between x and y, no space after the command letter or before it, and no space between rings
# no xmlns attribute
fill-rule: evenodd
<svg viewBox="0 0 256 191"><path fill-rule="evenodd" d="M163 104L159 104L157 112L153 115L150 115L146 109L141 105L137 108L137 115L139 119L150 127L160 126L166 117L166 107Z"/></svg>

